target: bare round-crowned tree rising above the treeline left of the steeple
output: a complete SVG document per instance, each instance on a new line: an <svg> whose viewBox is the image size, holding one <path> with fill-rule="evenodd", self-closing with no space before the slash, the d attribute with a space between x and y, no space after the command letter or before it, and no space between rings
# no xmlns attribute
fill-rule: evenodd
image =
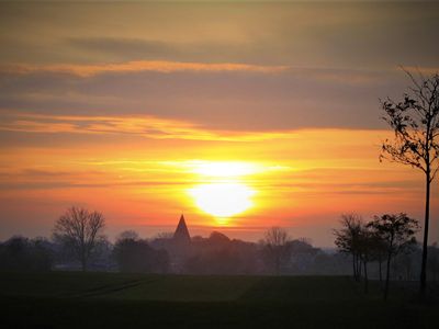
<svg viewBox="0 0 439 329"><path fill-rule="evenodd" d="M71 207L56 220L53 236L74 252L81 262L82 271L86 271L104 225L105 219L101 213Z"/></svg>

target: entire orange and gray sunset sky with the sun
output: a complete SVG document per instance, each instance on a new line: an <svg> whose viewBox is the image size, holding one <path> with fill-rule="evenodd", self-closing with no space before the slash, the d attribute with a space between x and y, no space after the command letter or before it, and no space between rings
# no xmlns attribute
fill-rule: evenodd
<svg viewBox="0 0 439 329"><path fill-rule="evenodd" d="M0 239L77 205L106 234L423 219L380 99L439 70L439 2L0 2ZM439 240L432 186L430 240Z"/></svg>

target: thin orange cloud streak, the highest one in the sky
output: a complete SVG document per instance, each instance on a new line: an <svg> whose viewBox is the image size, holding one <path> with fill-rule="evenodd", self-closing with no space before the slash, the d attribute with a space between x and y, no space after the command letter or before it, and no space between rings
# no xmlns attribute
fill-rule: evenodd
<svg viewBox="0 0 439 329"><path fill-rule="evenodd" d="M286 66L259 66L233 63L181 63L165 60L136 60L117 64L75 65L75 64L14 64L0 66L0 72L30 75L35 72L66 73L78 77L92 77L101 73L128 73L154 71L161 73L195 71L195 72L228 72L245 71L258 73L275 73L286 70Z"/></svg>

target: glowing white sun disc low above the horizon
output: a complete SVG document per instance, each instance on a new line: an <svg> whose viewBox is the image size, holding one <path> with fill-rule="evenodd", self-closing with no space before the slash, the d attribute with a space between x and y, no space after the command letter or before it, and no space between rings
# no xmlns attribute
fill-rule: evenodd
<svg viewBox="0 0 439 329"><path fill-rule="evenodd" d="M255 191L243 183L201 184L189 191L203 212L216 217L230 217L252 206Z"/></svg>

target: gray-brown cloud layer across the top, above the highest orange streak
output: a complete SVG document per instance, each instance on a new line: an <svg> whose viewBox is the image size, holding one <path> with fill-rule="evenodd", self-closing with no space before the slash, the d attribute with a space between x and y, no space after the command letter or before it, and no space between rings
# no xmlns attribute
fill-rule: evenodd
<svg viewBox="0 0 439 329"><path fill-rule="evenodd" d="M9 31L0 36L2 63L167 59L382 68L439 60L438 2L1 7L0 27Z"/></svg>

